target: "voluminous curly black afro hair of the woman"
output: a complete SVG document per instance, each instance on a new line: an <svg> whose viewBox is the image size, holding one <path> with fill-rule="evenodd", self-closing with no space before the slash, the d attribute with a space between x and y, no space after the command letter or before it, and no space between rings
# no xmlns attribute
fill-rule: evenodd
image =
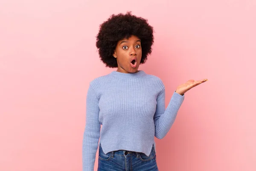
<svg viewBox="0 0 256 171"><path fill-rule="evenodd" d="M99 57L106 67L115 68L116 58L113 57L117 42L128 39L132 35L141 40L142 56L140 64L144 64L148 54L151 54L151 46L154 43L153 27L148 24L148 20L136 17L128 11L126 14L112 14L111 17L103 22L99 27L96 36L96 47L99 49Z"/></svg>

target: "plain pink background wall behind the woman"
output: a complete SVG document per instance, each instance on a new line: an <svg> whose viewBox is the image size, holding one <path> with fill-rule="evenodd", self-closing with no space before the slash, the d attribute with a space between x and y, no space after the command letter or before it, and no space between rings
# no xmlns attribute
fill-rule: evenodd
<svg viewBox="0 0 256 171"><path fill-rule="evenodd" d="M96 34L126 11L154 27L139 70L163 80L166 106L179 84L209 79L155 139L160 171L255 171L255 0L1 0L0 170L81 171L89 82L116 70Z"/></svg>

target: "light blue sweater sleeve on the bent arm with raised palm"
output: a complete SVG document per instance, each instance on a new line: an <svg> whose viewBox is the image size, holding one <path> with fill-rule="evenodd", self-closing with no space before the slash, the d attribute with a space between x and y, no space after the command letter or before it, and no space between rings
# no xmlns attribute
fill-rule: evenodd
<svg viewBox="0 0 256 171"><path fill-rule="evenodd" d="M157 107L154 114L155 137L158 139L165 137L171 129L177 112L184 100L184 95L174 92L168 107L165 109L165 87L164 85L162 86L163 88L157 96Z"/></svg>

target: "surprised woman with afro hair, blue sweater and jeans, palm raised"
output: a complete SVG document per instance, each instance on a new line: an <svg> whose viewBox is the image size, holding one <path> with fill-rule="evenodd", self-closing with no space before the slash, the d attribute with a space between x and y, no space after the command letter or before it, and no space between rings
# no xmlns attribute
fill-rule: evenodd
<svg viewBox="0 0 256 171"><path fill-rule="evenodd" d="M153 42L153 28L131 12L112 15L100 25L96 42L100 59L117 70L90 82L83 171L93 171L98 143L98 171L158 171L154 137L165 137L184 93L207 81L181 84L165 109L161 79L138 70Z"/></svg>

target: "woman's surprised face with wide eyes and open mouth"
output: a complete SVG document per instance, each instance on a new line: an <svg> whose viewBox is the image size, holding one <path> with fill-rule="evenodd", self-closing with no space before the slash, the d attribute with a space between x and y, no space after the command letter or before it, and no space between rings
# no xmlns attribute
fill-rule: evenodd
<svg viewBox="0 0 256 171"><path fill-rule="evenodd" d="M117 61L117 70L121 73L136 73L141 59L141 41L137 36L117 42L113 56Z"/></svg>

